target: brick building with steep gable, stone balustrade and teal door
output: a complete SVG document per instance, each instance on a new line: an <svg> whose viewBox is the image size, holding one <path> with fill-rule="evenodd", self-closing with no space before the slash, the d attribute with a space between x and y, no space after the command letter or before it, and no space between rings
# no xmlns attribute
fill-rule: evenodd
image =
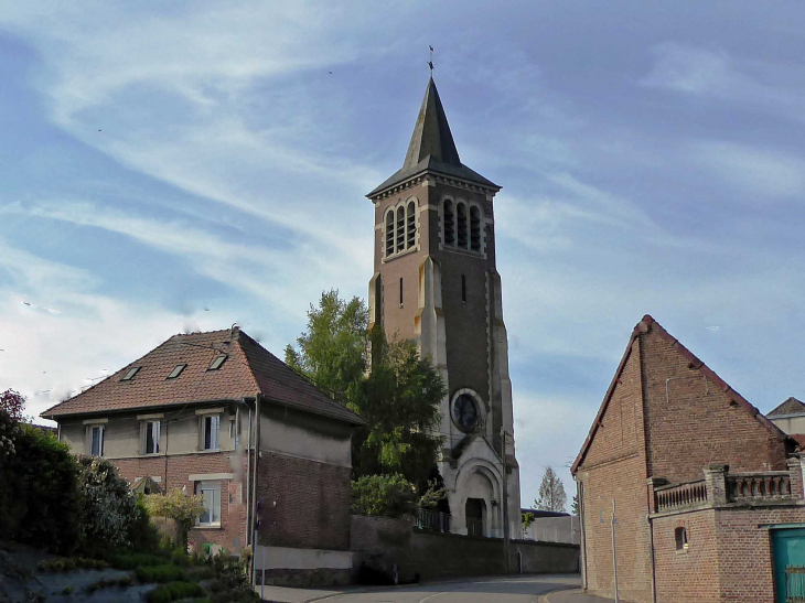
<svg viewBox="0 0 805 603"><path fill-rule="evenodd" d="M644 316L571 467L584 588L613 596L616 580L635 602L786 601L785 567L805 567L795 446Z"/></svg>

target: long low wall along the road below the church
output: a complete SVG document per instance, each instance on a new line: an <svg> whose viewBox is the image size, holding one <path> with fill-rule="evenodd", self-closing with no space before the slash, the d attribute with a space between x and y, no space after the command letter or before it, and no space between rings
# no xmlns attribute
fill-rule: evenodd
<svg viewBox="0 0 805 603"><path fill-rule="evenodd" d="M422 579L490 575L505 572L503 540L419 530L405 519L352 516L355 567L362 562L386 568L397 563L401 578ZM511 572L567 573L579 569L579 547L513 540Z"/></svg>

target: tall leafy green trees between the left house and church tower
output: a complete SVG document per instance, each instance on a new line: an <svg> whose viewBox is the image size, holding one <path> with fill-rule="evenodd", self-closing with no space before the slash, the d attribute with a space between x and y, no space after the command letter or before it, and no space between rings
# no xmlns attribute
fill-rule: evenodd
<svg viewBox="0 0 805 603"><path fill-rule="evenodd" d="M352 437L353 480L399 473L423 494L441 445L444 384L414 343L388 342L383 329L367 325L362 300L323 292L298 349L286 347L286 363L366 419Z"/></svg>

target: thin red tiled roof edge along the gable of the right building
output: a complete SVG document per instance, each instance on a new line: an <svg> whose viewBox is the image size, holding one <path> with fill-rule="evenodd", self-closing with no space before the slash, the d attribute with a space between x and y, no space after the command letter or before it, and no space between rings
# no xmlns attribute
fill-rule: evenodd
<svg viewBox="0 0 805 603"><path fill-rule="evenodd" d="M656 330L657 334L666 340L667 342L670 342L672 345L674 345L679 353L687 358L687 360L690 363L690 366L694 368L698 368L704 373L708 379L713 381L717 387L719 387L723 392L727 394L727 396L736 402L740 408L745 410L749 414L751 414L758 422L763 424L775 438L777 438L781 441L784 441L788 439L788 437L774 423L772 423L769 419L765 418L765 416L758 410L754 406L752 406L749 400L747 400L743 396L741 396L738 391L732 389L727 381L724 381L721 377L719 377L709 366L707 366L705 363L702 363L698 357L694 355L693 352L690 352L687 347L685 347L679 340L675 338L670 333L668 333L663 326L655 321L652 316L646 314L643 316L643 320L638 322L634 330L632 331L632 336L629 340L629 345L626 346L626 351L623 353L623 357L621 358L621 364L618 365L618 370L615 370L614 377L612 377L612 381L610 383L610 387L607 389L607 394L604 396L603 401L601 402L601 407L598 409L598 414L595 416L595 420L592 423L592 427L590 428L590 432L587 435L587 439L584 440L584 443L581 445L581 450L579 451L578 456L576 457L576 461L570 467L570 473L573 475L579 469L579 465L584 460L584 455L587 454L588 449L590 448L590 444L592 443L592 439L595 437L595 432L598 431L598 428L601 424L601 418L603 417L603 413L607 411L607 407L609 406L610 398L612 397L612 394L615 390L615 385L621 378L621 373L623 373L624 367L626 366L626 360L629 359L630 354L632 353L632 344L634 341L641 336L643 333L647 333L648 331ZM790 440L790 439L788 439ZM791 440L790 440L791 441Z"/></svg>

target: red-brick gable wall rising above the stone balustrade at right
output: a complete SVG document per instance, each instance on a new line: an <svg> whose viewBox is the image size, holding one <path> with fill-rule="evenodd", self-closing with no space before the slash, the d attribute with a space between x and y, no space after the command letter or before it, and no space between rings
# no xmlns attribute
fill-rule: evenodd
<svg viewBox="0 0 805 603"><path fill-rule="evenodd" d="M655 325L640 340L650 475L679 483L700 480L711 463L731 471L786 469L785 444L717 384L706 383Z"/></svg>

